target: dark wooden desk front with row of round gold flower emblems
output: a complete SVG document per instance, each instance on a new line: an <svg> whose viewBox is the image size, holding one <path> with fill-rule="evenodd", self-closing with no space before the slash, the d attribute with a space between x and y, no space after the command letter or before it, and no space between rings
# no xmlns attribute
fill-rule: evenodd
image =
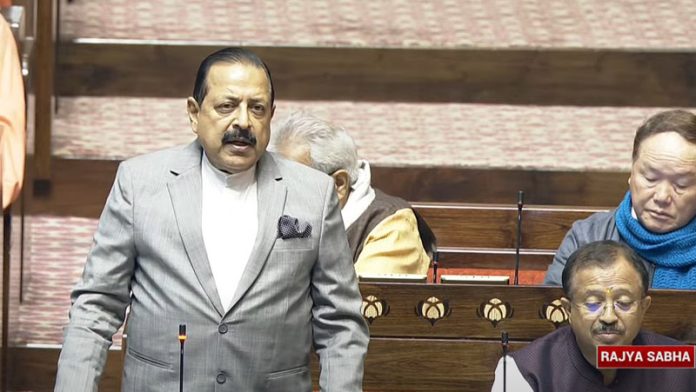
<svg viewBox="0 0 696 392"><path fill-rule="evenodd" d="M565 316L556 287L381 283L360 289L364 315L383 309L370 324L366 391L488 391L503 331L514 351L566 325L549 321ZM696 291L651 296L645 329L696 343Z"/></svg>

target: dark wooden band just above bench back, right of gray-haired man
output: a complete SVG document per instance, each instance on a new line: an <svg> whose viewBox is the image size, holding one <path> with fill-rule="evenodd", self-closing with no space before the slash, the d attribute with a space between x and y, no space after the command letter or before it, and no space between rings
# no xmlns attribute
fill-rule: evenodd
<svg viewBox="0 0 696 392"><path fill-rule="evenodd" d="M458 203L615 206L628 190L628 173L456 167L372 167L372 184L406 200Z"/></svg>

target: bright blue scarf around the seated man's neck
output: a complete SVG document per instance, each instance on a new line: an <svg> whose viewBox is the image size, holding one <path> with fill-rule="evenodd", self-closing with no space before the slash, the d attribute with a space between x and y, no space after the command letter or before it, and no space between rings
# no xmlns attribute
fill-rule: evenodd
<svg viewBox="0 0 696 392"><path fill-rule="evenodd" d="M696 219L669 233L653 233L631 215L631 192L616 209L621 239L655 264L652 287L696 290Z"/></svg>

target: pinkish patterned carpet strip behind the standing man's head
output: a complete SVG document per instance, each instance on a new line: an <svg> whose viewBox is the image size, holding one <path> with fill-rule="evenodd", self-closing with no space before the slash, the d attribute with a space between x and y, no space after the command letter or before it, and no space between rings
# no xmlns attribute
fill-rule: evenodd
<svg viewBox="0 0 696 392"><path fill-rule="evenodd" d="M186 101L61 98L54 155L124 159L193 140ZM659 108L277 102L274 127L306 110L346 128L383 166L627 171L635 129Z"/></svg>

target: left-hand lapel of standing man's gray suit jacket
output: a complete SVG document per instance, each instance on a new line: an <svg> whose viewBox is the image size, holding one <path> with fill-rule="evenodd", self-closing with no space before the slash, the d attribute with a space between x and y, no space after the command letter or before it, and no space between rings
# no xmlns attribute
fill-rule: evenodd
<svg viewBox="0 0 696 392"><path fill-rule="evenodd" d="M179 226L179 233L193 266L193 271L211 304L222 317L224 308L220 302L213 272L210 269L201 227L202 153L203 150L198 142L188 145L184 150L182 159L174 163L171 173L176 177L167 184L167 187Z"/></svg>

